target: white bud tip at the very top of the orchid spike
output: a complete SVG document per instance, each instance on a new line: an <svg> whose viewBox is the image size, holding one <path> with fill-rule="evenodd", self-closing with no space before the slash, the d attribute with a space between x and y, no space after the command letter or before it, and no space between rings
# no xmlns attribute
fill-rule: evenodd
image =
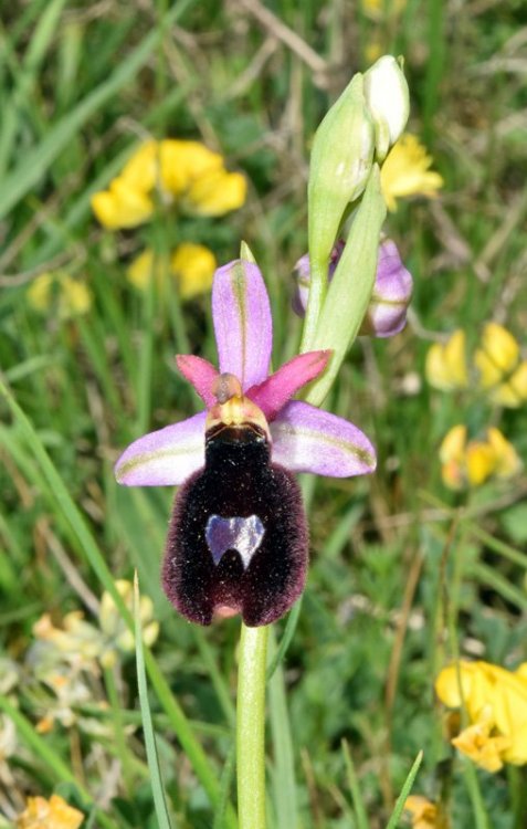
<svg viewBox="0 0 527 829"><path fill-rule="evenodd" d="M399 62L383 55L365 73L365 98L376 133L379 161L401 137L410 113L408 83Z"/></svg>

